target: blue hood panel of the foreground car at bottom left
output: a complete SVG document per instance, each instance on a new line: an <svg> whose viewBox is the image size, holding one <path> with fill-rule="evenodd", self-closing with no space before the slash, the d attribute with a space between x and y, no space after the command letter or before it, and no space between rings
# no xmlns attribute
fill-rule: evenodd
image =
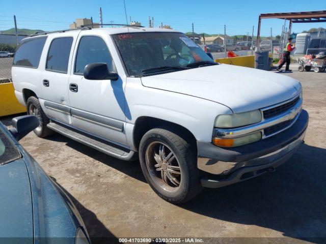
<svg viewBox="0 0 326 244"><path fill-rule="evenodd" d="M0 166L0 186L0 238L21 237L23 243L33 243L31 187L23 159Z"/></svg>

